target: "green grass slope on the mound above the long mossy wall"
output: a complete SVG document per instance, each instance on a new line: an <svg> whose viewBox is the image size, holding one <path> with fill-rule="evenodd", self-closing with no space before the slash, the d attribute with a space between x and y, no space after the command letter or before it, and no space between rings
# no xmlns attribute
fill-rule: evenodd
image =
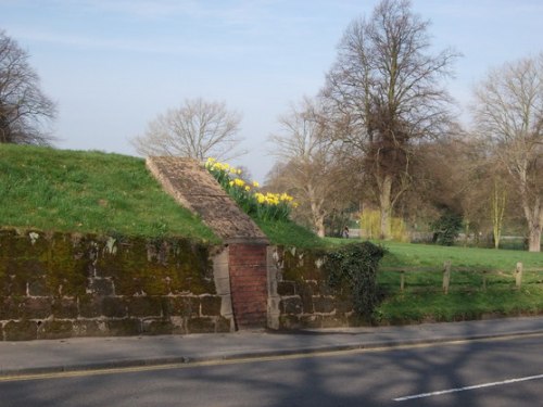
<svg viewBox="0 0 543 407"><path fill-rule="evenodd" d="M137 157L0 144L0 225L149 238L218 238Z"/></svg>

